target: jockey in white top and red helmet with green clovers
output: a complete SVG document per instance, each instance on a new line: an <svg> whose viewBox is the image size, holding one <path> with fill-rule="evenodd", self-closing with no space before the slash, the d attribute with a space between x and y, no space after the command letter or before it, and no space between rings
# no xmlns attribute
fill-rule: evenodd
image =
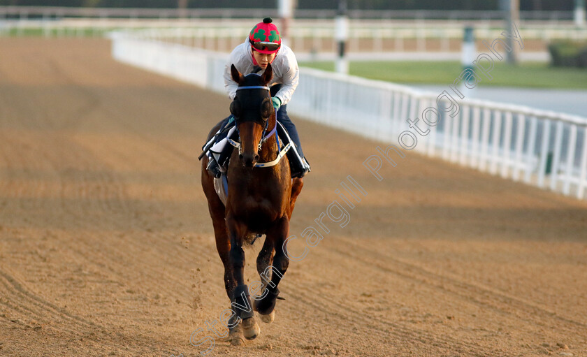
<svg viewBox="0 0 587 357"><path fill-rule="evenodd" d="M296 55L293 54L291 48L282 44L280 32L272 22L271 17L265 17L263 22L259 22L253 27L247 40L236 46L230 54L224 69L224 88L229 98L234 100L238 83L233 80L231 75L232 64L243 75L249 73L261 74L265 71L267 65L271 64L273 79L269 86L271 87L271 101L277 112L277 122L284 126L289 138L296 145L295 151L289 150L293 154L290 155L288 152L291 176L303 177L310 171L310 165L304 158L296 126L287 115L287 103L290 101L296 87L298 87L300 70ZM210 161L208 170L216 177L219 177L218 164L216 162L212 163L212 161Z"/></svg>

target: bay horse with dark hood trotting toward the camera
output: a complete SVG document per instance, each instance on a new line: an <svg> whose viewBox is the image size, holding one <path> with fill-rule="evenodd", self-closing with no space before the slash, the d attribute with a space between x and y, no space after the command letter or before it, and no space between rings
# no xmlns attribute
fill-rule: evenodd
<svg viewBox="0 0 587 357"><path fill-rule="evenodd" d="M233 150L226 172L226 205L215 191L214 177L206 170L208 157L204 156L202 160L202 188L208 199L216 248L224 264L226 294L231 300L228 327L233 345L244 344L243 336L253 340L259 335L253 309L264 322L274 319L279 294L277 285L289 265L287 252L284 252L289 219L303 187L302 178L291 179L287 158L281 159L284 150L280 151L277 119L268 87L272 76L270 64L263 74L246 76L231 66L231 77L238 83L231 113L235 117L240 143L233 141L238 150ZM221 124L210 131L207 141ZM245 285L245 251L242 247L250 245L259 235L266 235L256 258L262 284L254 290L261 295L254 295L254 305L251 305L249 289Z"/></svg>

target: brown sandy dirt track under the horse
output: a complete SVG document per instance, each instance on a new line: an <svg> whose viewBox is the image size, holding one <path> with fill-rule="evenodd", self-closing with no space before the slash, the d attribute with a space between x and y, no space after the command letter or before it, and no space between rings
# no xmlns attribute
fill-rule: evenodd
<svg viewBox="0 0 587 357"><path fill-rule="evenodd" d="M0 38L0 356L209 346L190 335L229 304L196 156L228 105L103 40ZM291 263L275 323L210 355L587 356L587 203L411 152L379 182L377 143L297 122L291 233L347 175L368 194Z"/></svg>

